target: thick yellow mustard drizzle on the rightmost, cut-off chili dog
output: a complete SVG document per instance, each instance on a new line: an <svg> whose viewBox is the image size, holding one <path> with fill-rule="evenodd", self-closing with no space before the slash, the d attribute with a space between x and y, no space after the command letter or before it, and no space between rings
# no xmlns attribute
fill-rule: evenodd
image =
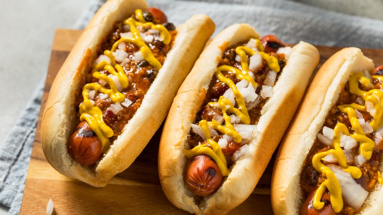
<svg viewBox="0 0 383 215"><path fill-rule="evenodd" d="M373 76L373 78L376 78L376 76ZM383 92L378 89L372 89L368 92L363 91L359 89L358 81L360 81L364 86L367 86L370 84L370 80L366 78L361 72L352 74L349 78L350 92L362 97L363 100L365 100L365 105L362 106L353 103L349 105L338 106L341 112L347 113L355 133L350 134L347 127L343 123L338 122L334 128L334 149L317 153L312 159L312 164L315 170L320 173L325 173L327 177L327 180L319 186L314 194L313 207L317 210L322 209L325 205L323 202L321 202L321 198L323 193L326 191L326 188L330 192L330 202L334 212L339 213L343 208L342 189L334 173L321 162L324 157L326 157L328 154L332 154L338 161L339 166L342 167L346 172L350 173L354 179L361 177L361 171L359 168L347 165L346 156L344 155L343 150L340 148L341 134L351 136L357 142L359 142L358 153L363 155L366 160L371 159L372 152L375 147L375 142L365 135L361 125L359 124L355 109L359 111L366 111L367 104L372 104L375 108L375 114L373 115L373 121L370 123L370 125L374 132L377 131L383 124ZM378 175L380 175L379 172ZM381 184L383 183L382 177L378 177L378 180Z"/></svg>

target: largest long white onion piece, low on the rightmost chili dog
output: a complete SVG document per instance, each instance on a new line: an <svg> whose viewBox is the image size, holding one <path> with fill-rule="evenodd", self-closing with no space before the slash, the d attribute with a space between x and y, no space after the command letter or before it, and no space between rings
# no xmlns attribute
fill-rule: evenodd
<svg viewBox="0 0 383 215"><path fill-rule="evenodd" d="M356 210L359 210L364 200L366 200L368 192L356 183L350 173L344 171L342 168L336 165L328 165L328 168L330 168L338 179L344 200Z"/></svg>

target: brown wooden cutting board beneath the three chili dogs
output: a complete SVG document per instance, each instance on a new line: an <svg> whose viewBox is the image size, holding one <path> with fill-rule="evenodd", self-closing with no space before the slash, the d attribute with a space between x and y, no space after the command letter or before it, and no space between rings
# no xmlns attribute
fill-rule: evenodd
<svg viewBox="0 0 383 215"><path fill-rule="evenodd" d="M36 136L29 163L21 214L45 214L49 198L54 214L189 214L173 206L162 191L157 168L158 144L162 128L154 135L137 160L114 177L104 188L93 188L59 174L46 161L40 142L42 111L52 82L65 58L80 37L81 30L58 29L52 46L47 81L41 101ZM320 65L341 48L318 47ZM363 49L376 65L383 64L383 50ZM318 66L318 68L319 68ZM274 157L253 194L229 214L273 214L270 183Z"/></svg>

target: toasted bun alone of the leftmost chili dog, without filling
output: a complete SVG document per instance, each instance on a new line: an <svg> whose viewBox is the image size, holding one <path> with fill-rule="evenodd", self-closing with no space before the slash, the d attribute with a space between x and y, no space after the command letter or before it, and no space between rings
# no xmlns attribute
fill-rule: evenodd
<svg viewBox="0 0 383 215"><path fill-rule="evenodd" d="M178 87L214 31L214 23L205 15L195 15L176 28L177 36L164 65L123 133L96 166L81 165L71 158L67 149L68 138L79 120L74 98L81 95L85 74L89 73L101 43L114 24L130 17L135 9L147 7L144 0L107 1L58 72L42 117L41 142L47 160L61 174L102 187L129 167L160 127Z"/></svg>

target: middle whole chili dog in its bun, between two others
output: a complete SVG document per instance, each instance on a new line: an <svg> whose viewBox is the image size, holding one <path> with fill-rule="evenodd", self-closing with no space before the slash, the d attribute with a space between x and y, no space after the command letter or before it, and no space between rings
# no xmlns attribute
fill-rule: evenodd
<svg viewBox="0 0 383 215"><path fill-rule="evenodd" d="M167 198L222 214L251 194L298 107L319 53L237 24L205 48L170 108L159 148ZM283 110L283 111L282 111Z"/></svg>

